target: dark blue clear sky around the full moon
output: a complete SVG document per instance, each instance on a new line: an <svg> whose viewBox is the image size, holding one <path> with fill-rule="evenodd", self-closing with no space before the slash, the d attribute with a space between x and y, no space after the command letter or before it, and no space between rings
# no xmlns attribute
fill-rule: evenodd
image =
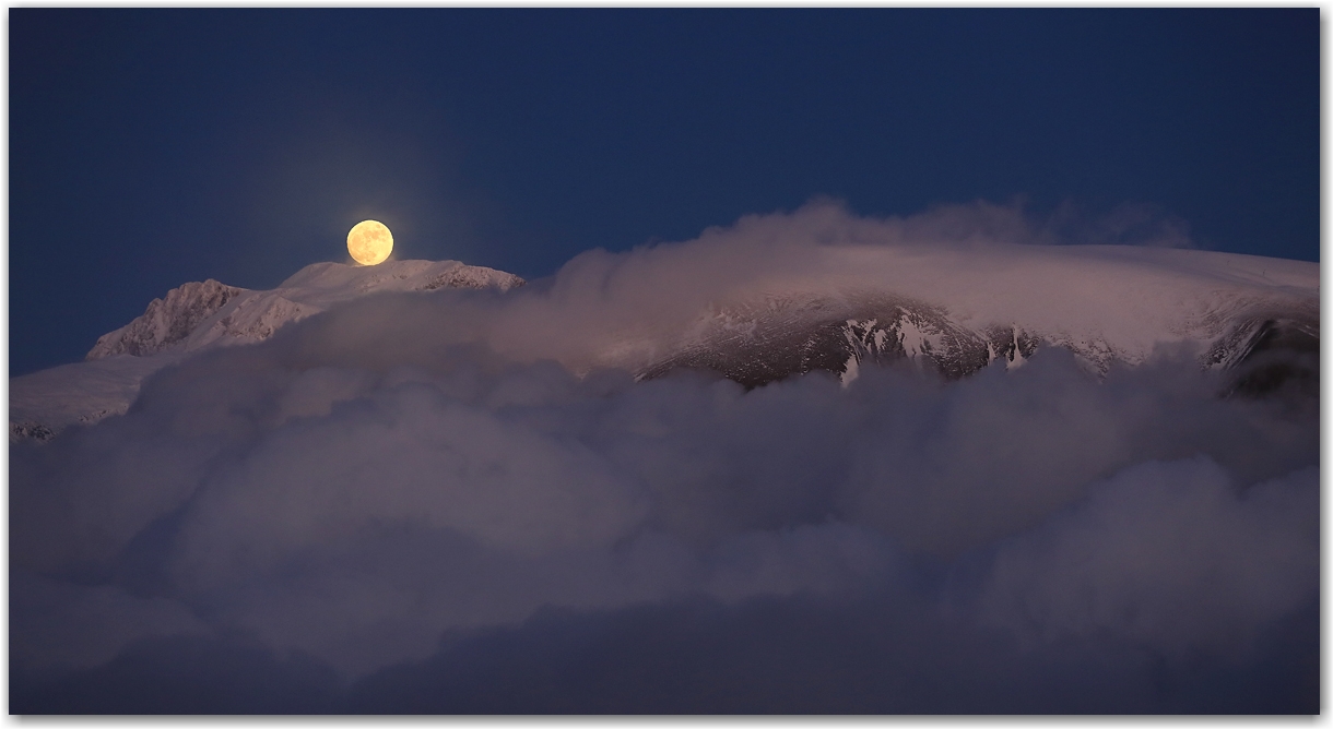
<svg viewBox="0 0 1333 729"><path fill-rule="evenodd" d="M1148 204L1317 261L1318 9L9 11L11 375L187 281L540 277L834 196Z"/></svg>

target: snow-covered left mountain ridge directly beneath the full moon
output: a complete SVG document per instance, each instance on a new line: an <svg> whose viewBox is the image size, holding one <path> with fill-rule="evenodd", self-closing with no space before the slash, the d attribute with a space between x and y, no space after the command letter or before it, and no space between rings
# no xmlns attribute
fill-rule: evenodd
<svg viewBox="0 0 1333 729"><path fill-rule="evenodd" d="M313 263L277 289L256 291L217 281L184 283L143 315L104 334L87 362L9 380L9 439L49 439L75 423L124 412L149 374L189 354L261 342L284 325L376 291L509 289L524 279L457 261L387 261L379 266Z"/></svg>

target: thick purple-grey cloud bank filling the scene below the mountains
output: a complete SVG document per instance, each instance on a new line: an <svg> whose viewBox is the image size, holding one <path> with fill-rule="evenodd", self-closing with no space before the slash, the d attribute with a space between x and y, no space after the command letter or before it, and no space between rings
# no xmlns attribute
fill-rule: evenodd
<svg viewBox="0 0 1333 729"><path fill-rule="evenodd" d="M752 391L588 357L976 229L941 216L368 297L11 447L11 710L1317 712L1313 403L1173 349Z"/></svg>

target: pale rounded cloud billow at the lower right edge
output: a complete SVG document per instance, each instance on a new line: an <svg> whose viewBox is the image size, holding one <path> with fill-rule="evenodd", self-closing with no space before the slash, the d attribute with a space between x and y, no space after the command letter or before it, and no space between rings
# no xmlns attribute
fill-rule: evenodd
<svg viewBox="0 0 1333 729"><path fill-rule="evenodd" d="M984 600L1038 640L1241 653L1318 591L1318 541L1316 467L1242 490L1208 458L1148 462L1000 547Z"/></svg>

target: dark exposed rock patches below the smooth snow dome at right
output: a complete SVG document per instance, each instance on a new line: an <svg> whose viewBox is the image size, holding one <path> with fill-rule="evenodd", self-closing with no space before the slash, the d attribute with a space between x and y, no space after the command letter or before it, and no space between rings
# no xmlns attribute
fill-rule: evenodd
<svg viewBox="0 0 1333 729"><path fill-rule="evenodd" d="M1021 322L974 327L941 306L902 297L769 299L720 310L700 329L697 338L639 376L690 367L758 387L822 370L848 383L866 364L900 363L960 379L997 359L1018 367L1040 347L1068 349L1101 374L1116 361L1133 361L1096 335L1041 331ZM1318 331L1317 303L1308 302L1256 307L1189 334L1208 345L1200 366L1237 370L1238 383L1253 380L1238 386L1249 391L1272 390L1290 376L1317 380ZM1316 359L1297 363L1296 355ZM1272 363L1250 372L1260 359Z"/></svg>

